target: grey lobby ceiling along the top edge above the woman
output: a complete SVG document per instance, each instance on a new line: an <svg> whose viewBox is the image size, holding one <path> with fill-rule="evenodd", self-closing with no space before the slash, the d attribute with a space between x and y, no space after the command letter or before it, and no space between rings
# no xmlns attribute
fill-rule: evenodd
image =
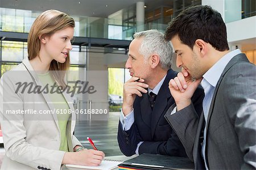
<svg viewBox="0 0 256 170"><path fill-rule="evenodd" d="M108 18L119 10L125 9L143 0L0 0L0 7L10 9L23 9L32 11L45 11L56 9L78 16L97 16ZM167 6L171 0L144 0L148 8Z"/></svg>

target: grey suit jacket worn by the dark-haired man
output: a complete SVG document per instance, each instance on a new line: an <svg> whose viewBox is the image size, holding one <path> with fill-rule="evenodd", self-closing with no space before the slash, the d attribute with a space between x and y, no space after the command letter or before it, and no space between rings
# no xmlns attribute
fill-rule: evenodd
<svg viewBox="0 0 256 170"><path fill-rule="evenodd" d="M199 118L193 105L171 115L167 121L175 129L196 169L205 169L201 157L200 132L204 114ZM256 67L244 54L234 56L226 65L210 103L205 157L209 169L256 168Z"/></svg>

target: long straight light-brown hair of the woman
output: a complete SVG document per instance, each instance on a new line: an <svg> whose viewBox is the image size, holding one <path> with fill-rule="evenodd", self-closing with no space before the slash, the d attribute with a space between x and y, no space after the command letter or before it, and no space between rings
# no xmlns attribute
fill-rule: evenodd
<svg viewBox="0 0 256 170"><path fill-rule="evenodd" d="M32 60L39 56L41 42L39 36L51 36L56 31L63 30L67 27L75 27L75 20L68 14L57 10L47 10L35 19L27 39L28 59ZM58 63L52 60L49 71L52 72L53 78L59 83L62 88L65 88L64 81L65 71L69 69L70 58L69 54L65 63ZM58 72L61 71L61 72Z"/></svg>

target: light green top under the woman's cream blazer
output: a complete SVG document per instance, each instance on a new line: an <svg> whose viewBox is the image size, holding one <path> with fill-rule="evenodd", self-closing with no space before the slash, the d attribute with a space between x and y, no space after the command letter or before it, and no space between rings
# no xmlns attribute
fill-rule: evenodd
<svg viewBox="0 0 256 170"><path fill-rule="evenodd" d="M61 142L60 142L60 151L65 151L68 152L68 140L67 140L67 124L69 117L71 114L68 113L69 106L67 101L65 100L63 94L56 93L56 89L58 88L57 85L55 85L53 93L51 92L51 89L55 81L51 77L51 74L49 72L44 73L44 74L38 74L39 80L42 82L43 86L48 85L48 95L49 98L52 101L53 106L55 107L56 113L57 114L57 119L59 123L59 128L60 128L60 136L61 136Z"/></svg>

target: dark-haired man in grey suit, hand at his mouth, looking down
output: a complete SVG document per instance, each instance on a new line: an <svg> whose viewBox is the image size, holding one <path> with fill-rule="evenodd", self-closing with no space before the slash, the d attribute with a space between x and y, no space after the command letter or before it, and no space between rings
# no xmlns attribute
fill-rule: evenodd
<svg viewBox="0 0 256 170"><path fill-rule="evenodd" d="M196 169L256 168L256 67L240 49L229 51L226 26L209 6L181 12L166 30L177 53L170 80L176 102L166 114ZM195 81L193 81L195 80ZM198 117L191 96L204 88Z"/></svg>

